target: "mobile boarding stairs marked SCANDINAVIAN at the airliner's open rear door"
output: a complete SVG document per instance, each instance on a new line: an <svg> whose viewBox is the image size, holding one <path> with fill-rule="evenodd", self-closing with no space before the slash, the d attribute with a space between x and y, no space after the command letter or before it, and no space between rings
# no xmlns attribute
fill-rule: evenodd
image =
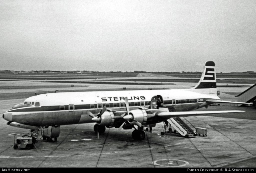
<svg viewBox="0 0 256 173"><path fill-rule="evenodd" d="M167 107L169 112L177 112L175 107ZM165 124L166 127L169 128L169 132L173 132L176 134L180 134L186 138L192 138L196 135L196 128L189 123L189 121L185 117L173 117L167 119Z"/></svg>

